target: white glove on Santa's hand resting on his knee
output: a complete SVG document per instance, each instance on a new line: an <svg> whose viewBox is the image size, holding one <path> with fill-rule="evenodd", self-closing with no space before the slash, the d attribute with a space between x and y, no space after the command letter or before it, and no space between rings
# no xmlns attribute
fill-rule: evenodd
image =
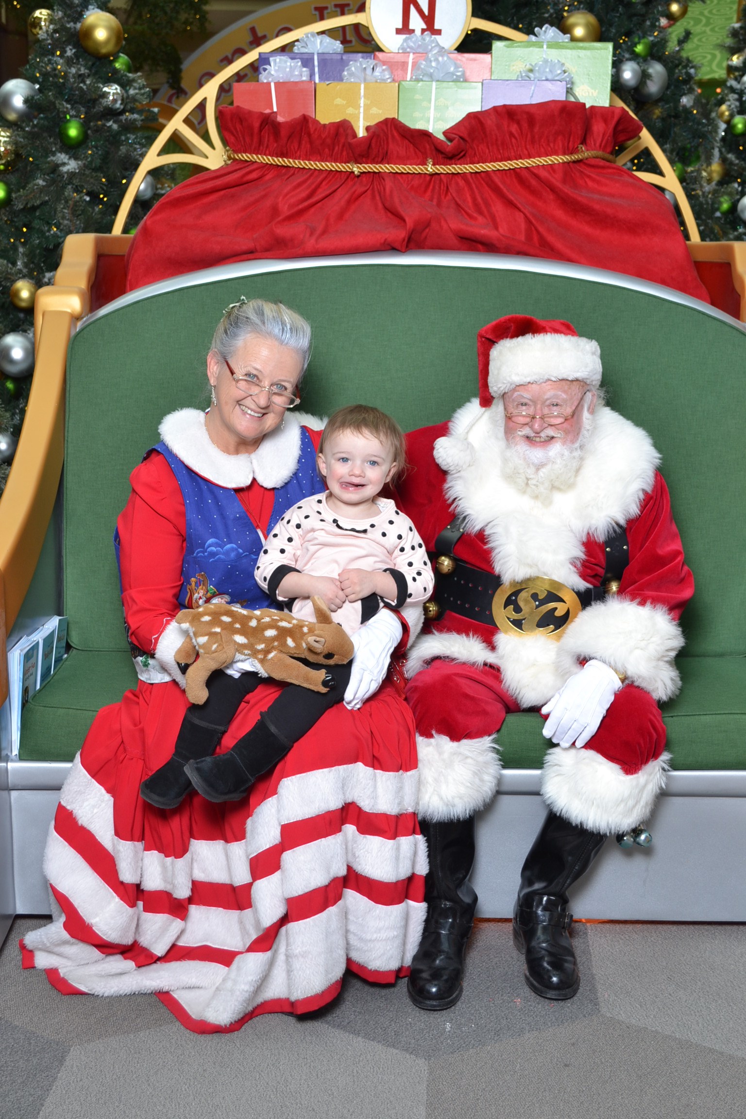
<svg viewBox="0 0 746 1119"><path fill-rule="evenodd" d="M589 660L541 708L542 715L549 715L544 725L545 739L565 749L575 743L580 750L601 726L621 687L613 668L603 660Z"/></svg>

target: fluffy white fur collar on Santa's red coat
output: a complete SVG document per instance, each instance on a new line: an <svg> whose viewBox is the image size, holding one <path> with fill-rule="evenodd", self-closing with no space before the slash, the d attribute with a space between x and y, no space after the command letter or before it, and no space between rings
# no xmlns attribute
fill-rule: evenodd
<svg viewBox="0 0 746 1119"><path fill-rule="evenodd" d="M636 516L653 485L659 454L650 436L597 405L574 485L544 505L503 476L504 444L494 431L495 422L502 426L502 416L491 413L474 399L451 421L448 435L466 436L473 461L462 460L448 473L446 496L466 514L471 532L484 530L494 570L504 580L546 575L576 590L585 586L577 573L583 542L588 536L604 539L614 524Z"/></svg>

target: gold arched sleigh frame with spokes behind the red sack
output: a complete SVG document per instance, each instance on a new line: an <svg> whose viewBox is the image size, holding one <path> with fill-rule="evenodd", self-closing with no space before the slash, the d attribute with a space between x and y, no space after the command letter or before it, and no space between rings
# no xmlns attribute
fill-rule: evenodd
<svg viewBox="0 0 746 1119"><path fill-rule="evenodd" d="M301 27L296 31L289 31L286 35L280 35L276 39L263 44L261 50L262 54L281 50L289 43L300 39L306 31L331 31L334 28L350 27L355 23L369 27L368 17L365 11L353 12L349 16L338 16L334 19L324 19L319 23L309 23L308 27ZM471 19L468 30L489 31L502 39L513 39L516 41L528 38L522 31L513 31L509 27L502 27L501 23L491 23L484 19ZM166 124L166 128L159 133L158 139L151 145L126 189L112 233L123 233L138 188L149 171L154 171L159 167L167 167L173 163L190 163L204 170L214 170L223 166L225 147L217 128L218 91L234 74L238 74L240 70L246 69L253 62L256 62L258 56L259 48L249 50L248 54L236 58L225 69L220 70L219 74L216 74L201 90L192 94L189 101ZM202 103L205 103L207 126L205 133L200 135L190 120L190 114ZM620 101L615 94L612 94L611 103L612 105L620 105L622 109L626 109L624 102ZM176 142L182 149L181 152L164 153L164 148L169 141ZM646 129L643 129L640 137L617 156L616 162L620 164L627 163L645 150L650 152L661 173L652 175L649 171L634 171L633 173L640 179L644 179L645 182L652 182L655 187L671 191L676 197L689 241L698 242L700 239L699 231L697 229L695 215L683 188L677 179L673 168Z"/></svg>

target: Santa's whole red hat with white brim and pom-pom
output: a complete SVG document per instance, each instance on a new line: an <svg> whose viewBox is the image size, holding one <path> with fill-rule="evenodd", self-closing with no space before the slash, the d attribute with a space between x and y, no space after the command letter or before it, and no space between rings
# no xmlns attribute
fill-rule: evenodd
<svg viewBox="0 0 746 1119"><path fill-rule="evenodd" d="M597 388L601 384L598 342L580 338L575 327L561 319L506 314L480 330L476 359L483 408L517 385L584 380L589 388ZM474 449L466 439L445 435L436 440L435 461L448 473L465 469L473 460Z"/></svg>

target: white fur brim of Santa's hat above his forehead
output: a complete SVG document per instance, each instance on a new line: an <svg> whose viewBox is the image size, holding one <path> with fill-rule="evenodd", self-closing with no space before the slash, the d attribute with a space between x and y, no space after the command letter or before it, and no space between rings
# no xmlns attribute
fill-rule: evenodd
<svg viewBox="0 0 746 1119"><path fill-rule="evenodd" d="M523 335L492 347L488 387L495 399L517 385L544 380L584 380L597 388L601 373L601 350L592 338Z"/></svg>

